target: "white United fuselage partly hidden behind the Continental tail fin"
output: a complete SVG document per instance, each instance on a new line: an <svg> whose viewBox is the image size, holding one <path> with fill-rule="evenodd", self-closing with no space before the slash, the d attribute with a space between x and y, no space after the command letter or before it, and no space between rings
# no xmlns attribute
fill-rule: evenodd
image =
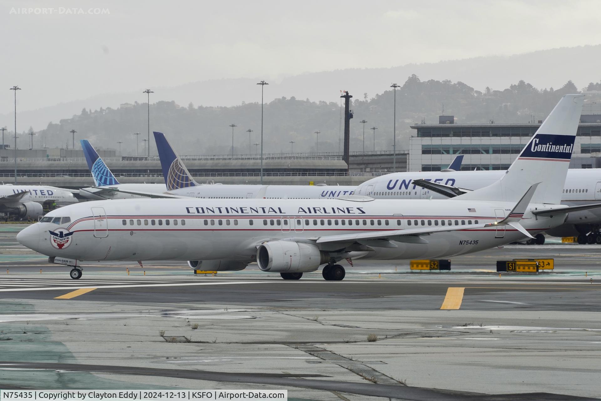
<svg viewBox="0 0 601 401"><path fill-rule="evenodd" d="M443 185L475 191L492 184L503 174L505 174L505 170L392 173L367 180L357 186L355 195L366 195L377 199L445 199L444 195L414 185L413 180L426 179ZM601 203L601 169L572 168L568 170L561 203L568 206ZM601 209L572 212L566 223L599 224L601 223Z"/></svg>

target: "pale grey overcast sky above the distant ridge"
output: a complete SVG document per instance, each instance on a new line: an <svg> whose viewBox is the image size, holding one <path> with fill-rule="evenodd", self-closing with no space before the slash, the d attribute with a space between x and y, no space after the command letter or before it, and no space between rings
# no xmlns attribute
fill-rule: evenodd
<svg viewBox="0 0 601 401"><path fill-rule="evenodd" d="M13 85L28 110L206 79L598 44L599 15L596 0L2 0L0 114L13 111Z"/></svg>

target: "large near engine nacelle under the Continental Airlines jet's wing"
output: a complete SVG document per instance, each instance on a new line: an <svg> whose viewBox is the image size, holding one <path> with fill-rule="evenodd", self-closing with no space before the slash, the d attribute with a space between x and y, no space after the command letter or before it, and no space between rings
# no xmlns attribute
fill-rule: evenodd
<svg viewBox="0 0 601 401"><path fill-rule="evenodd" d="M264 272L313 272L329 260L328 253L312 243L269 241L257 249L257 264Z"/></svg>

